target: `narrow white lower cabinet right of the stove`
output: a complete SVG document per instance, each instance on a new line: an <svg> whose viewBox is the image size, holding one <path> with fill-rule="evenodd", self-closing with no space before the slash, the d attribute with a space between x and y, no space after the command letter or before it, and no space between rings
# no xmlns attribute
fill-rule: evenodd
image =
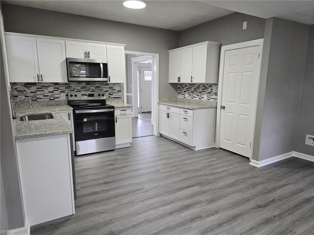
<svg viewBox="0 0 314 235"><path fill-rule="evenodd" d="M115 108L116 148L130 147L132 142L131 108Z"/></svg>

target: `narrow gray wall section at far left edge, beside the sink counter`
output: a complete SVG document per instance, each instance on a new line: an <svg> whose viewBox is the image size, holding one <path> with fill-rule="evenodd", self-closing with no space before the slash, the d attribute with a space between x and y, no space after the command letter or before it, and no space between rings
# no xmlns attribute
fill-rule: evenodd
<svg viewBox="0 0 314 235"><path fill-rule="evenodd" d="M0 61L0 165L1 165L1 230L24 227L24 212L17 165L12 116L9 108L8 91L4 74L1 50Z"/></svg>

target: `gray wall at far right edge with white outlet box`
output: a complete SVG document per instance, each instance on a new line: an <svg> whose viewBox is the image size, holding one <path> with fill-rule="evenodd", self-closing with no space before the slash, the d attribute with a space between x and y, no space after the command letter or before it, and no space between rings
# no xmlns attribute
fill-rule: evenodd
<svg viewBox="0 0 314 235"><path fill-rule="evenodd" d="M314 25L310 28L308 54L294 141L294 151L314 156L314 146L305 144L306 134L314 135Z"/></svg>

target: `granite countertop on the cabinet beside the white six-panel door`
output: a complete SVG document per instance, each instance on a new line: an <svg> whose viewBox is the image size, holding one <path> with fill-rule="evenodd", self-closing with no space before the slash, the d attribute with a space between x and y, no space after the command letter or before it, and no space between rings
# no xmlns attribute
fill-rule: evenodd
<svg viewBox="0 0 314 235"><path fill-rule="evenodd" d="M158 104L175 106L185 109L212 109L217 107L216 101L187 98L160 98Z"/></svg>

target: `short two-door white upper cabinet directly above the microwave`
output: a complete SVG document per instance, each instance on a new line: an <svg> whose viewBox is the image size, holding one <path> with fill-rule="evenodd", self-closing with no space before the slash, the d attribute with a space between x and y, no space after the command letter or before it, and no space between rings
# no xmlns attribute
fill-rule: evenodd
<svg viewBox="0 0 314 235"><path fill-rule="evenodd" d="M106 45L79 41L65 41L66 55L70 58L101 59L107 61Z"/></svg>

